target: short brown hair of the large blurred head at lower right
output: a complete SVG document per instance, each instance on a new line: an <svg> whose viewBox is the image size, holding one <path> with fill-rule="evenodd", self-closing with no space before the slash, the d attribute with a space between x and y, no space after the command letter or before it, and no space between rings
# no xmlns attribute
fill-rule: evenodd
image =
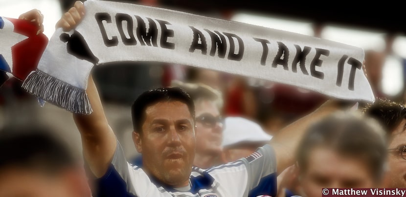
<svg viewBox="0 0 406 197"><path fill-rule="evenodd" d="M372 177L379 181L387 155L384 134L374 119L356 114L334 114L309 127L296 152L298 165L301 172L306 171L312 150L327 147L339 155L361 159Z"/></svg>

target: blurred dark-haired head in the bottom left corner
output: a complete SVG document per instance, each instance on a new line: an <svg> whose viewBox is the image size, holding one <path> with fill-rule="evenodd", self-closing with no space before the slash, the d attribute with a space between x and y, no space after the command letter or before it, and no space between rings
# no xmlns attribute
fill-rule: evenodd
<svg viewBox="0 0 406 197"><path fill-rule="evenodd" d="M91 197L83 161L35 127L0 130L1 197Z"/></svg>

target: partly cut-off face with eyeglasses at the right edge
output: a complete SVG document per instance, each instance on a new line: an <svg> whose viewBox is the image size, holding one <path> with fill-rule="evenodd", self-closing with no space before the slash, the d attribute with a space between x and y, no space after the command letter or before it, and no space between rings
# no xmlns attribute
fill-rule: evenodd
<svg viewBox="0 0 406 197"><path fill-rule="evenodd" d="M389 144L389 149L394 149L406 145L406 132L405 132L406 119L396 127L392 133L392 140ZM400 155L400 152L396 151L389 154L388 157L389 171L387 173L385 187L393 188L406 188L406 160Z"/></svg>

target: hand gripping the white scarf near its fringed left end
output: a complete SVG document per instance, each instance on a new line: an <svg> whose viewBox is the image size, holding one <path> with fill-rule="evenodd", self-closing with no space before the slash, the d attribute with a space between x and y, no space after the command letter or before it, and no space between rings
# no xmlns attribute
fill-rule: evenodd
<svg viewBox="0 0 406 197"><path fill-rule="evenodd" d="M62 28L64 31L70 31L74 29L85 16L85 5L82 1L77 0L74 7L71 7L68 12L62 15L62 18L58 20L55 25L55 29Z"/></svg>

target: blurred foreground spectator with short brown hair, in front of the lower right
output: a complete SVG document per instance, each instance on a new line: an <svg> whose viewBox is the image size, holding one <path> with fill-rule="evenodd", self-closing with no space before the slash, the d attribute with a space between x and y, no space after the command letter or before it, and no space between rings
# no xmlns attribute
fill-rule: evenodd
<svg viewBox="0 0 406 197"><path fill-rule="evenodd" d="M358 113L340 112L314 124L296 152L301 189L293 193L321 197L322 188L382 186L384 136L377 121Z"/></svg>

